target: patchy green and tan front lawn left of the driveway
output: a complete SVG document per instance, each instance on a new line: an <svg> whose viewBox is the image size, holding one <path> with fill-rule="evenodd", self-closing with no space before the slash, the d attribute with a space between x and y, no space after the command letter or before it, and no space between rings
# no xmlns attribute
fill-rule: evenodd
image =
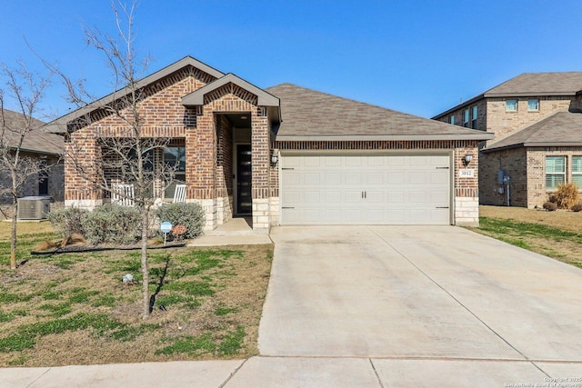
<svg viewBox="0 0 582 388"><path fill-rule="evenodd" d="M272 255L270 244L151 251L146 321L139 253L29 258L0 272L0 366L255 355Z"/></svg>

